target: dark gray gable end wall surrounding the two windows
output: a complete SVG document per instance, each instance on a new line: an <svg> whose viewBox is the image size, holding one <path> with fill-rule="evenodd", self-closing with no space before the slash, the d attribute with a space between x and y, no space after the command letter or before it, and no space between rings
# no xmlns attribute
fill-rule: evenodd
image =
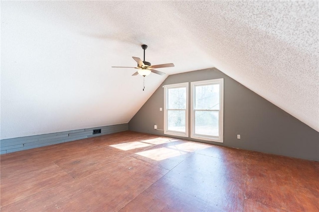
<svg viewBox="0 0 319 212"><path fill-rule="evenodd" d="M215 68L170 75L131 119L129 130L163 136L154 129L154 124L163 129L162 86L218 78L224 78L224 143L211 143L319 161L319 132Z"/></svg>

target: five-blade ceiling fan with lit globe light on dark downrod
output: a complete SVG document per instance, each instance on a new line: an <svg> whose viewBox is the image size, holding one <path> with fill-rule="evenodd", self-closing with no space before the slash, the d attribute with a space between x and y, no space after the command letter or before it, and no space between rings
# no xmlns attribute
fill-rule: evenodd
<svg viewBox="0 0 319 212"><path fill-rule="evenodd" d="M157 68L166 68L166 67L174 67L174 64L172 63L166 63L166 64L160 64L160 65L151 65L150 62L145 61L145 49L147 49L148 46L143 44L142 49L144 49L144 60L142 61L138 57L132 57L137 63L138 67L127 67L127 66L112 66L112 68L135 68L139 69L137 72L135 72L132 76L136 76L138 74L142 75L143 77L148 76L151 74L151 72L159 75L164 75L164 72L155 70Z"/></svg>

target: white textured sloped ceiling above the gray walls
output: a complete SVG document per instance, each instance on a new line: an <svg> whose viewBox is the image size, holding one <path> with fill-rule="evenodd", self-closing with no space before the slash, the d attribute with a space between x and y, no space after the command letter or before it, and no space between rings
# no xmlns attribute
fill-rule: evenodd
<svg viewBox="0 0 319 212"><path fill-rule="evenodd" d="M319 131L318 1L1 1L1 139L127 123L216 67ZM132 56L165 76L131 75Z"/></svg>

